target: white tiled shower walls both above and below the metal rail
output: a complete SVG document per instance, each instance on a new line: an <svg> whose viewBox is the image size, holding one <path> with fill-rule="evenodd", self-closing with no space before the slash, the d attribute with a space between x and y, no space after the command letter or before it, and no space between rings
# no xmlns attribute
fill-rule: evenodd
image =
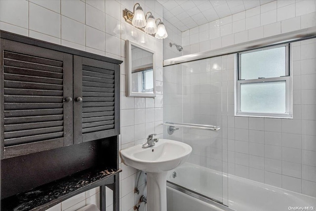
<svg viewBox="0 0 316 211"><path fill-rule="evenodd" d="M183 55L315 26L315 6L277 0L190 29ZM234 55L165 67L164 121L222 127L171 136L164 128L166 138L193 146L192 163L316 197L315 39L291 50L292 120L235 117Z"/></svg>

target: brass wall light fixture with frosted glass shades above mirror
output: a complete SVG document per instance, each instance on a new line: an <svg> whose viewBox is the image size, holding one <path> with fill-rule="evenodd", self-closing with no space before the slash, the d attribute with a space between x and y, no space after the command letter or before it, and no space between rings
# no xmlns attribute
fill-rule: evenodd
<svg viewBox="0 0 316 211"><path fill-rule="evenodd" d="M136 5L138 6L135 10ZM148 18L147 15L149 15ZM152 35L157 39L164 39L168 37L168 34L161 19L157 19L159 20L157 24L157 20L155 20L152 12L147 12L145 16L143 8L140 6L139 3L135 3L133 12L125 8L123 10L123 17L127 23L132 24L133 26L143 30L147 34Z"/></svg>

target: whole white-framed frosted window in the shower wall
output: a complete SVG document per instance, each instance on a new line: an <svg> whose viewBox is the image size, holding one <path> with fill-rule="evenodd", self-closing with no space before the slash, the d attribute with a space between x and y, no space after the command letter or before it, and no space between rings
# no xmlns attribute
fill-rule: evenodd
<svg viewBox="0 0 316 211"><path fill-rule="evenodd" d="M292 118L289 44L237 53L236 115Z"/></svg>

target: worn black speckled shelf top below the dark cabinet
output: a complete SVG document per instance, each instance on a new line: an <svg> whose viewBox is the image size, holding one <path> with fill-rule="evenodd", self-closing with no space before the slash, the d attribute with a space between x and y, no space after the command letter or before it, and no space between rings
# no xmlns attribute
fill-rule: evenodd
<svg viewBox="0 0 316 211"><path fill-rule="evenodd" d="M100 186L102 181L106 183L107 178L120 171L106 168L80 171L1 200L1 211L46 210L74 195Z"/></svg>

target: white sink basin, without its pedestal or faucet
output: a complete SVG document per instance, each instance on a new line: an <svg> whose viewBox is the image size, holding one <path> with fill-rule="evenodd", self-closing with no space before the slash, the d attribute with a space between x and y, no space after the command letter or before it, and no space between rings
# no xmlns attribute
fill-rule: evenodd
<svg viewBox="0 0 316 211"><path fill-rule="evenodd" d="M192 152L188 144L159 139L155 146L142 148L142 144L120 150L122 162L147 172L163 172L184 163Z"/></svg>

